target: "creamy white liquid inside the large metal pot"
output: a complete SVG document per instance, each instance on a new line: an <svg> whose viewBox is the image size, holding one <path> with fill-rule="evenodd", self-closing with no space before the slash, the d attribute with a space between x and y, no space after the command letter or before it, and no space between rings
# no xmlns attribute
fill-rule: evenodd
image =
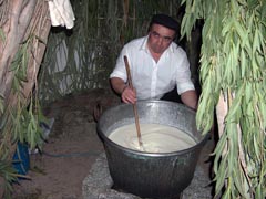
<svg viewBox="0 0 266 199"><path fill-rule="evenodd" d="M143 147L140 147L135 124L113 130L109 138L123 147L147 153L171 153L191 148L196 142L186 133L166 125L140 124Z"/></svg>

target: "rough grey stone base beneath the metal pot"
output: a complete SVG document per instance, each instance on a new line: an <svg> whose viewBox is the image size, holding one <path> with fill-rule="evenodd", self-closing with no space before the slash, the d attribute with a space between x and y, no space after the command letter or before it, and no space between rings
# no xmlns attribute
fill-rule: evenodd
<svg viewBox="0 0 266 199"><path fill-rule="evenodd" d="M196 167L191 185L183 191L182 199L212 199L211 180L201 167ZM105 154L101 154L93 164L89 176L82 184L83 199L141 199L131 193L112 189L113 180L109 172Z"/></svg>

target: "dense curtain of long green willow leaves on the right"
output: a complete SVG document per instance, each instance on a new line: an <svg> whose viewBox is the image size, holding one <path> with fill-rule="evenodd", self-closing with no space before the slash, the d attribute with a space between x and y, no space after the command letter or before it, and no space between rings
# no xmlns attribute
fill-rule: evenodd
<svg viewBox="0 0 266 199"><path fill-rule="evenodd" d="M196 115L207 133L216 111L215 192L266 198L266 3L263 0L184 0L182 35L204 20L202 95ZM216 107L216 109L215 109Z"/></svg>

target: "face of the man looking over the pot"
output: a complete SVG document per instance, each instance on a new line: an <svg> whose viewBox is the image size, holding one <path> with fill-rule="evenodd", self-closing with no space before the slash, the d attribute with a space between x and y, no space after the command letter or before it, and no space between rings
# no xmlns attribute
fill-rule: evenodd
<svg viewBox="0 0 266 199"><path fill-rule="evenodd" d="M162 54L171 44L175 31L160 24L153 24L149 32L147 45L153 53Z"/></svg>

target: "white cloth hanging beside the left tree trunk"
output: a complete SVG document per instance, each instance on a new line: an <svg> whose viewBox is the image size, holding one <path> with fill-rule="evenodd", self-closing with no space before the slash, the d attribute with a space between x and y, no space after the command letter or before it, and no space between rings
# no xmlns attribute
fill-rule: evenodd
<svg viewBox="0 0 266 199"><path fill-rule="evenodd" d="M52 27L74 27L74 13L69 0L50 0L48 1Z"/></svg>

